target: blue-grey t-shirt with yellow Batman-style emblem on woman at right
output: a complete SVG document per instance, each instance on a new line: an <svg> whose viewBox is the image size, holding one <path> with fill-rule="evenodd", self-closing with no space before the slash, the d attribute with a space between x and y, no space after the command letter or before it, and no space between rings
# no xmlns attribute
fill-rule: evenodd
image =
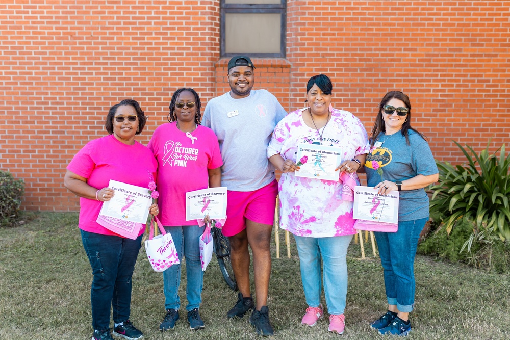
<svg viewBox="0 0 510 340"><path fill-rule="evenodd" d="M381 133L377 138L384 142L367 154L365 169L369 187L376 186L382 180L405 180L416 175L429 176L437 174L438 167L432 156L427 141L413 130L409 132L409 143L399 131L393 135L385 136ZM372 160L382 162L381 176L372 168ZM380 164L380 163L379 163ZM413 221L429 216L428 195L425 189L400 191L398 201L398 220Z"/></svg>

